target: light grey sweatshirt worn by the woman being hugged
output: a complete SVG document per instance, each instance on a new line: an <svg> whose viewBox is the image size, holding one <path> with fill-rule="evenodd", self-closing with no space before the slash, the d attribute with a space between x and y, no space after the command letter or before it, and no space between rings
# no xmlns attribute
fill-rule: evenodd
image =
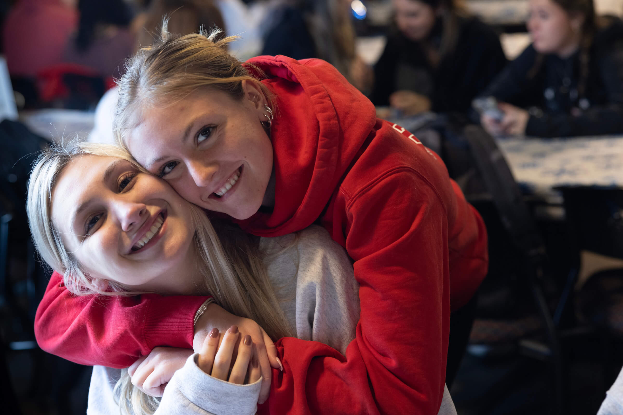
<svg viewBox="0 0 623 415"><path fill-rule="evenodd" d="M283 299L283 313L298 338L325 343L345 354L359 320L359 285L350 258L320 226L300 231L294 245L293 237L260 240L260 248L269 253L267 271L278 298ZM270 256L288 245L285 251ZM212 378L197 366L197 356L191 355L173 375L156 414L255 414L261 380L235 385ZM113 388L120 373L121 369L93 367L87 415L119 413ZM447 387L439 414L456 414Z"/></svg>

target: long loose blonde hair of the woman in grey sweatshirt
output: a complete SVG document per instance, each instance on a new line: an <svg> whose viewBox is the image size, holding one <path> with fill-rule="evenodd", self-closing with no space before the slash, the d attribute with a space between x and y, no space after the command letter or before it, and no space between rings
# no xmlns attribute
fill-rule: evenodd
<svg viewBox="0 0 623 415"><path fill-rule="evenodd" d="M63 275L70 292L78 296L137 294L124 291L121 284L112 281L109 284L112 291L96 291L90 276L67 251L62 235L52 223L52 192L59 175L75 157L87 155L124 159L141 172L150 174L117 146L74 140L49 147L37 158L28 184L26 205L32 239L44 261ZM204 286L197 288L197 294L211 294L217 304L232 314L255 320L273 339L291 335L292 327L288 325L270 285L259 239L225 221L211 223L201 208L189 205L191 220L196 225L193 242L199 253L197 272L204 277ZM158 399L133 388L127 371L116 389L120 406L126 413L151 414L158 407Z"/></svg>

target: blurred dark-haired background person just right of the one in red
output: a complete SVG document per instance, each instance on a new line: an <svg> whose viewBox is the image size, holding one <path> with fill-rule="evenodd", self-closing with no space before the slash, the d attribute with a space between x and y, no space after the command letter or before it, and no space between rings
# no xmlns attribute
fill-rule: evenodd
<svg viewBox="0 0 623 415"><path fill-rule="evenodd" d="M65 61L92 68L102 77L121 77L121 63L135 52L133 14L123 0L80 0L78 30L67 43Z"/></svg>

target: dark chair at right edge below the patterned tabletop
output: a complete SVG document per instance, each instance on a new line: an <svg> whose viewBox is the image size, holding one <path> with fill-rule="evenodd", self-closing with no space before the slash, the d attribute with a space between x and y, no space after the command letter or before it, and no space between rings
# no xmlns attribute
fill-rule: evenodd
<svg viewBox="0 0 623 415"><path fill-rule="evenodd" d="M623 259L623 189L615 187L558 187L563 194L565 221L569 241L574 249L572 268L559 302L556 315L569 331L594 332L601 335L604 384L610 385L618 373L623 354L612 356L618 347L612 343L623 339L623 268L606 269L587 277L579 292L575 291L581 251L591 251ZM612 358L616 358L613 364Z"/></svg>

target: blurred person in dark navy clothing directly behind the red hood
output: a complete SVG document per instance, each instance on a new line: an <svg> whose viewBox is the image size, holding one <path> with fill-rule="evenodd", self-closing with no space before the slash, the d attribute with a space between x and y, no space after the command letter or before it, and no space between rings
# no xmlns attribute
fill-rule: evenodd
<svg viewBox="0 0 623 415"><path fill-rule="evenodd" d="M321 58L338 68L359 90L371 84L369 67L356 55L351 2L346 0L268 1L259 29L262 55Z"/></svg>

